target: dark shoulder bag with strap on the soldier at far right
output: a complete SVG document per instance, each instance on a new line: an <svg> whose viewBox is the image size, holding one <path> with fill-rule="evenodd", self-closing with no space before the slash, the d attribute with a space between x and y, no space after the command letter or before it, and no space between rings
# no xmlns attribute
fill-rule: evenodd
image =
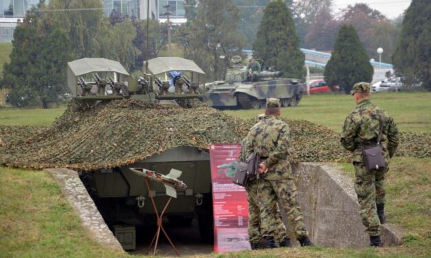
<svg viewBox="0 0 431 258"><path fill-rule="evenodd" d="M382 121L382 113L379 115L379 137L377 138L377 145L364 148L362 150L362 157L364 159L364 164L366 167L366 170L368 172L382 169L386 167L384 158L383 158L383 152L382 152L382 133L383 133L383 127L384 127L384 121Z"/></svg>

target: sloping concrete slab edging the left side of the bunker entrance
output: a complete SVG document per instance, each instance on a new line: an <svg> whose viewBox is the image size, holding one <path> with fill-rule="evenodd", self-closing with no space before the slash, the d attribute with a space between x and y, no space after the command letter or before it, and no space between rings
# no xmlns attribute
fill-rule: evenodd
<svg viewBox="0 0 431 258"><path fill-rule="evenodd" d="M78 214L85 228L88 228L93 239L108 248L122 250L120 242L109 230L107 224L104 223L96 204L94 204L93 199L91 199L87 189L82 184L78 172L65 168L45 170L60 185L63 195Z"/></svg>

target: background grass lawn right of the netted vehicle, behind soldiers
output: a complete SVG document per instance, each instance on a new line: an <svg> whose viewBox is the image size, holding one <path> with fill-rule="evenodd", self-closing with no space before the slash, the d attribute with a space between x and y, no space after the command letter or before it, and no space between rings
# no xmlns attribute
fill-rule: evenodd
<svg viewBox="0 0 431 258"><path fill-rule="evenodd" d="M431 93L373 93L373 103L393 115L399 130L431 132ZM294 108L283 108L281 115L305 119L341 132L344 119L355 109L353 96L345 94L305 95ZM254 118L261 110L228 110L226 113L244 119Z"/></svg>

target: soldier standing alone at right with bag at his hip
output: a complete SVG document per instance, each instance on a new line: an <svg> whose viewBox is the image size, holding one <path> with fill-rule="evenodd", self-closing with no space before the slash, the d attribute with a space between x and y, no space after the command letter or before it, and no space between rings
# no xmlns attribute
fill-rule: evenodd
<svg viewBox="0 0 431 258"><path fill-rule="evenodd" d="M384 177L389 169L389 160L395 154L399 143L398 129L394 120L385 110L370 101L370 84L359 82L353 85L357 104L344 121L341 144L353 152L355 166L355 191L360 203L362 223L370 235L371 246L383 246L380 238L381 224L384 223L385 189ZM362 150L377 144L380 119L382 132L382 152L386 167L368 172L364 165Z"/></svg>

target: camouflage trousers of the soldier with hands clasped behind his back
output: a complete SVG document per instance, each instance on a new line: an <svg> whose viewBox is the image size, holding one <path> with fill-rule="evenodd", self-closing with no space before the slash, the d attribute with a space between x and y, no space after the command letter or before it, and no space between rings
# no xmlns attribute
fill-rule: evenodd
<svg viewBox="0 0 431 258"><path fill-rule="evenodd" d="M296 202L296 185L292 179L258 180L258 204L261 210L261 231L263 237L273 235L275 228L276 203L284 210L289 222L293 223L296 239L308 237L302 222L302 213Z"/></svg>

